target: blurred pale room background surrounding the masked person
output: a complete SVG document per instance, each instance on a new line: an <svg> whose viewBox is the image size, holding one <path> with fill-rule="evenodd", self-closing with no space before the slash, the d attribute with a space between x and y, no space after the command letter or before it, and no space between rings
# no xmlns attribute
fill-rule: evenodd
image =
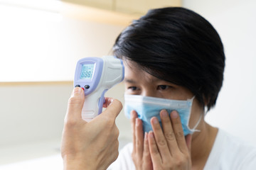
<svg viewBox="0 0 256 170"><path fill-rule="evenodd" d="M0 0L0 169L62 169L76 62L110 55L132 20L166 6L196 11L220 34L225 80L206 120L256 145L256 1ZM118 84L106 96L124 104L123 93ZM122 112L116 123L122 148L132 141L129 120Z"/></svg>

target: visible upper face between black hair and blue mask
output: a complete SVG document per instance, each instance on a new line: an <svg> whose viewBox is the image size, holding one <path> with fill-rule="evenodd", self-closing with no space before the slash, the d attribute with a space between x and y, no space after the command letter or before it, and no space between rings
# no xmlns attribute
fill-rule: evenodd
<svg viewBox="0 0 256 170"><path fill-rule="evenodd" d="M144 70L134 62L125 60L124 69L125 94L184 101L193 98L191 91L185 87L158 79L144 72ZM190 127L196 125L201 113L202 108L195 98L191 109Z"/></svg>

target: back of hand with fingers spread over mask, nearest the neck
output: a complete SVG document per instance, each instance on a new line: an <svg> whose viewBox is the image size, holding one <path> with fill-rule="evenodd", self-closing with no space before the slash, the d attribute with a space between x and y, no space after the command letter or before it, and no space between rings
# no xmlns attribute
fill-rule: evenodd
<svg viewBox="0 0 256 170"><path fill-rule="evenodd" d="M151 118L154 130L149 132L149 150L154 169L191 169L191 135L183 135L176 111L160 113L163 130L157 118Z"/></svg>

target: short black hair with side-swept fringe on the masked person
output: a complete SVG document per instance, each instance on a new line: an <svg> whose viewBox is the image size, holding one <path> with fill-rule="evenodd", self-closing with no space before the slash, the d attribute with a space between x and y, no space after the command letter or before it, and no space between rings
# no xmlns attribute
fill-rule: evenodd
<svg viewBox="0 0 256 170"><path fill-rule="evenodd" d="M225 54L217 31L198 13L152 9L119 34L113 52L154 77L186 87L208 111L215 106Z"/></svg>

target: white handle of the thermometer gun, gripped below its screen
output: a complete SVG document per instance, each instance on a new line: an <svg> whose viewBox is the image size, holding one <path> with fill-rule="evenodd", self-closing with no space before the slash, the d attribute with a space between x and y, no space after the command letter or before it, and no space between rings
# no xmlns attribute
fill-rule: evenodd
<svg viewBox="0 0 256 170"><path fill-rule="evenodd" d="M105 92L107 90L98 90L95 93L85 96L85 103L82 107L82 119L89 122L98 114L102 113L102 106L105 103ZM97 104L95 104L97 103Z"/></svg>

